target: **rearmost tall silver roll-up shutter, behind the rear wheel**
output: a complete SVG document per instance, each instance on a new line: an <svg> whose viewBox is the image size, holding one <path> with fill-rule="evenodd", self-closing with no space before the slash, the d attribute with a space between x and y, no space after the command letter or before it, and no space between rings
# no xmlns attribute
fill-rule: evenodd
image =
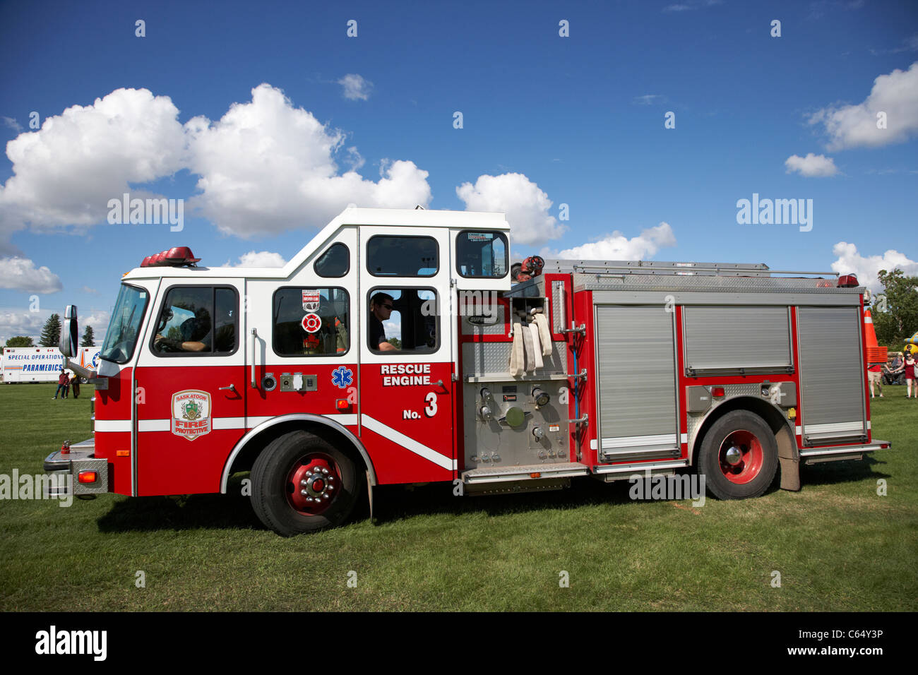
<svg viewBox="0 0 918 675"><path fill-rule="evenodd" d="M860 309L801 307L803 443L867 440Z"/></svg>

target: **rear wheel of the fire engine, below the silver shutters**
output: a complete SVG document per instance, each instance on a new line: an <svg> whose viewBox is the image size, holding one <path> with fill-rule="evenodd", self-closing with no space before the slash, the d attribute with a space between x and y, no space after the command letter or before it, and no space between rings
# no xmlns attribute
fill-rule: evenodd
<svg viewBox="0 0 918 675"><path fill-rule="evenodd" d="M698 470L718 499L759 497L778 470L775 434L753 412L728 412L704 434Z"/></svg>

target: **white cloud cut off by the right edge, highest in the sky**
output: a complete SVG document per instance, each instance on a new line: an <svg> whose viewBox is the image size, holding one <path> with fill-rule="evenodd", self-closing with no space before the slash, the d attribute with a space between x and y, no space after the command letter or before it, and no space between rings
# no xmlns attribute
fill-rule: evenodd
<svg viewBox="0 0 918 675"><path fill-rule="evenodd" d="M885 129L878 129L880 119ZM832 151L907 141L918 133L918 62L907 71L880 75L862 103L824 107L810 116L810 123L823 124Z"/></svg>

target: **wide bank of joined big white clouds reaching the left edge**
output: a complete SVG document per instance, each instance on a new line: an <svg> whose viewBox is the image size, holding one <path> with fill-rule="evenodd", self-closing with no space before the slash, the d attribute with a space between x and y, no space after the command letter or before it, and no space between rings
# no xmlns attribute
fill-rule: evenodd
<svg viewBox="0 0 918 675"><path fill-rule="evenodd" d="M178 121L169 96L118 89L91 106L45 119L38 131L6 146L13 175L0 186L0 252L16 253L14 231L106 221L108 200L151 197L130 190L188 169L200 194L188 210L242 238L319 227L348 204L412 208L431 201L428 173L414 163L384 160L378 180L357 173L364 159L343 148L346 134L294 107L270 84L252 89L217 121ZM335 162L341 151L351 169Z"/></svg>

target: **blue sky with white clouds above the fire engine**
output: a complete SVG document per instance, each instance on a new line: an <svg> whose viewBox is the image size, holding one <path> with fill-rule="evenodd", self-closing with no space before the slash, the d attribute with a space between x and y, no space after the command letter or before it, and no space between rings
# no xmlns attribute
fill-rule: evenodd
<svg viewBox="0 0 918 675"><path fill-rule="evenodd" d="M144 255L281 263L352 202L504 210L517 257L918 274L912 2L5 3L0 54L4 341L69 303L101 338ZM125 191L183 231L108 224ZM812 229L738 223L754 193Z"/></svg>

